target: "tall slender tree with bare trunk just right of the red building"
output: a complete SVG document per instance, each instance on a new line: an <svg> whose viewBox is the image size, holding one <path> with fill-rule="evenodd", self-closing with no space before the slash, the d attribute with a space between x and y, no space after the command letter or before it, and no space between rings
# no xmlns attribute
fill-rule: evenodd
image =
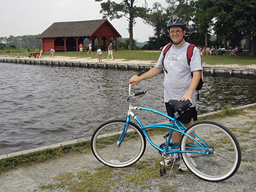
<svg viewBox="0 0 256 192"><path fill-rule="evenodd" d="M102 0L95 0L101 2ZM136 23L135 19L140 17L141 19L147 19L147 1L144 0L143 7L135 6L135 0L123 0L120 3L108 0L107 2L100 3L101 10L100 13L103 13L103 18L120 19L125 17L128 22L128 31L129 31L129 49L133 49L133 26Z"/></svg>

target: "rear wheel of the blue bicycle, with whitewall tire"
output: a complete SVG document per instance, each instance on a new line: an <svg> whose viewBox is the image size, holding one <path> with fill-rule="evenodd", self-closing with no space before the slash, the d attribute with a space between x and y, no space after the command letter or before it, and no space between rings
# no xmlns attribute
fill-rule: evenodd
<svg viewBox="0 0 256 192"><path fill-rule="evenodd" d="M234 175L241 163L241 149L236 136L225 126L211 121L196 122L186 130L180 144L186 166L196 176L210 181L226 180ZM209 150L209 154L198 154ZM192 160L191 160L192 157Z"/></svg>

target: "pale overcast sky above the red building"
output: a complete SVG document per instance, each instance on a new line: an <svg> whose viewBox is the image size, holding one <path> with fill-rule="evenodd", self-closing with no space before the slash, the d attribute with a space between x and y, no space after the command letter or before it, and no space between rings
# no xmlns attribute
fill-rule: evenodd
<svg viewBox="0 0 256 192"><path fill-rule="evenodd" d="M121 0L115 0L120 3ZM106 2L103 0L102 2ZM147 0L148 7L152 8L155 0ZM166 6L165 0L157 1ZM138 0L136 6L142 6L144 0ZM38 35L49 28L54 22L95 20L102 19L100 2L95 0L0 0L0 37ZM110 20L122 38L129 38L127 31L128 21L122 19ZM134 39L145 42L153 36L151 26L136 19L133 29Z"/></svg>

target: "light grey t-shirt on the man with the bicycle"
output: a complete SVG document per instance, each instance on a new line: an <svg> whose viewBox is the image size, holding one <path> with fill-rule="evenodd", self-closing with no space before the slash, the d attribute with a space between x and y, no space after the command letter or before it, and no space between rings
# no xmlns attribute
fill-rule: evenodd
<svg viewBox="0 0 256 192"><path fill-rule="evenodd" d="M189 43L177 47L172 45L164 57L164 102L168 102L170 99L180 99L189 89L191 84L191 72L196 70L203 70L200 51L197 47L193 49L193 56L188 65L187 50ZM156 63L157 68L163 68L163 51ZM195 92L192 95L192 106L196 104Z"/></svg>

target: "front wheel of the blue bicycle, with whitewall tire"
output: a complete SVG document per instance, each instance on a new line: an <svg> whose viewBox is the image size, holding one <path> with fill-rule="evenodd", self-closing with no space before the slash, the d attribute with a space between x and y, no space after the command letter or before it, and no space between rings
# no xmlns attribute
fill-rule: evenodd
<svg viewBox="0 0 256 192"><path fill-rule="evenodd" d="M110 120L93 133L91 147L94 156L111 167L125 167L136 163L143 156L146 140L138 125L129 122L127 133L118 147L118 139L124 132L125 120Z"/></svg>

